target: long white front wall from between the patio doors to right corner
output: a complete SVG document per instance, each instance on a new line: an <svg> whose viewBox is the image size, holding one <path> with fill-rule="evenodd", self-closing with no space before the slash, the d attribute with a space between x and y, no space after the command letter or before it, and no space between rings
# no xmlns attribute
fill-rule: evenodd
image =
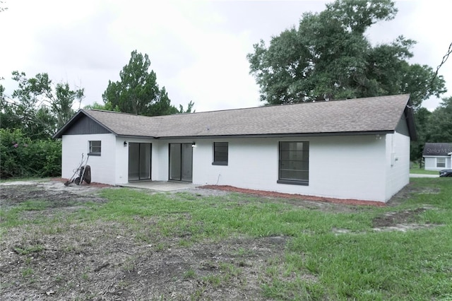
<svg viewBox="0 0 452 301"><path fill-rule="evenodd" d="M228 165L212 165L213 142L229 143ZM279 141L309 141L309 185L278 184ZM168 179L168 143L159 140L158 175ZM195 139L193 183L231 185L338 199L386 201L386 141L367 136ZM154 165L155 166L155 165Z"/></svg>

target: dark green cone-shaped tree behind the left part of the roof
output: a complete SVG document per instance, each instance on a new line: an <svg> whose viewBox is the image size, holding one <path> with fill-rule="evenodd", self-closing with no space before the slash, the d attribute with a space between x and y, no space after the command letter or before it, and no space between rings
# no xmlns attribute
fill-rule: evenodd
<svg viewBox="0 0 452 301"><path fill-rule="evenodd" d="M134 50L129 64L119 73L120 81L108 82L102 94L105 107L117 107L120 112L145 116L178 113L179 110L171 105L165 87L159 88L155 72L149 69L148 54L143 56Z"/></svg>

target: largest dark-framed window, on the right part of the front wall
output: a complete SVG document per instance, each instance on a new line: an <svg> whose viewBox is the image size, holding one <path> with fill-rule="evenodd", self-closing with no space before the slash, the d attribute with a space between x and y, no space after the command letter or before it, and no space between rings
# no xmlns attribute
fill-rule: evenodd
<svg viewBox="0 0 452 301"><path fill-rule="evenodd" d="M309 142L280 142L278 183L309 184Z"/></svg>

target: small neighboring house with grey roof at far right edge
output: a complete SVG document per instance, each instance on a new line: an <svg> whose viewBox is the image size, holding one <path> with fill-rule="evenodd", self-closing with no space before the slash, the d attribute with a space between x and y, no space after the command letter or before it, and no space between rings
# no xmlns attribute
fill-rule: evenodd
<svg viewBox="0 0 452 301"><path fill-rule="evenodd" d="M425 170L447 170L452 168L452 143L425 143Z"/></svg>

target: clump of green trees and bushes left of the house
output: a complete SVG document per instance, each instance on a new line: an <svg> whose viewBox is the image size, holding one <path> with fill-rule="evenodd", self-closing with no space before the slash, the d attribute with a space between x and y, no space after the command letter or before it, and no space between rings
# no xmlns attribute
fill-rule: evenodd
<svg viewBox="0 0 452 301"><path fill-rule="evenodd" d="M52 139L73 116L83 88L53 84L47 73L28 78L14 71L18 88L6 95L0 85L0 177L61 175L61 141Z"/></svg>

